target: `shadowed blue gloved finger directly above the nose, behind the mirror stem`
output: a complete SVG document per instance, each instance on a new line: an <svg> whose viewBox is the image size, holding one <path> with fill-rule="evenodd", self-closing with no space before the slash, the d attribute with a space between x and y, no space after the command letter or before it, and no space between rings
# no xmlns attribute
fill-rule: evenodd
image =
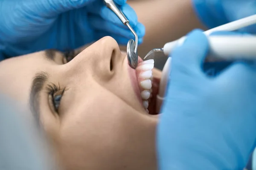
<svg viewBox="0 0 256 170"><path fill-rule="evenodd" d="M96 34L97 34L97 38L98 38L98 39L101 39L102 37L110 36L110 37L112 37L113 39L115 39L116 42L117 42L119 45L127 45L128 41L130 40L130 39L125 38L125 37L122 37L122 36L120 36L120 35L111 34L111 33L109 33L109 32L105 32L105 31L97 31ZM141 44L142 42L143 42L143 38L139 38L139 39L138 39L138 44Z"/></svg>

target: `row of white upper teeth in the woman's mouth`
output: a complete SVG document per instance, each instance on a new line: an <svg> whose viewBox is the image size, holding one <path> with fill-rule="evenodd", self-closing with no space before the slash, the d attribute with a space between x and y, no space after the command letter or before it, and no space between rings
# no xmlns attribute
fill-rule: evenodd
<svg viewBox="0 0 256 170"><path fill-rule="evenodd" d="M143 107L148 112L148 99L152 91L152 69L154 68L154 59L148 59L141 62L136 68L138 74L138 81L142 88L141 97L143 99Z"/></svg>

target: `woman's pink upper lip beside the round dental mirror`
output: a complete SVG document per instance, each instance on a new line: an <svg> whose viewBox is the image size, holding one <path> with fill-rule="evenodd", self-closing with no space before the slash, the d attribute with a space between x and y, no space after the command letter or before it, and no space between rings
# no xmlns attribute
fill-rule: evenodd
<svg viewBox="0 0 256 170"><path fill-rule="evenodd" d="M127 57L126 57L127 58ZM138 64L140 62L143 62L143 59L141 59L140 57L138 57ZM141 98L141 95L140 95L140 87L139 87L139 83L138 83L138 78L137 78L137 72L135 69L131 68L129 66L129 63L128 63L128 60L127 60L127 64L128 64L128 72L129 72L129 75L130 75L130 78L131 78L131 85L133 86L134 88L134 91L135 93L137 94L137 98L138 100L140 101L140 103L142 104L143 101L142 101L142 98Z"/></svg>

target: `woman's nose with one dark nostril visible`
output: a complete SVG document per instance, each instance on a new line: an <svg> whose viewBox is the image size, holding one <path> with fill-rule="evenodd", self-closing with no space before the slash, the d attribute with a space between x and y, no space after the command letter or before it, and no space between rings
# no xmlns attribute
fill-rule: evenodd
<svg viewBox="0 0 256 170"><path fill-rule="evenodd" d="M93 43L68 64L70 72L83 76L96 76L99 79L110 79L122 64L119 46L112 37L103 37Z"/></svg>

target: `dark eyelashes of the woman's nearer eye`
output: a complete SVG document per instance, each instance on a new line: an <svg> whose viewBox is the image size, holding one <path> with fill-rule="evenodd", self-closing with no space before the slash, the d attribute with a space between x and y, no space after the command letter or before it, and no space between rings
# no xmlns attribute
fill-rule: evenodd
<svg viewBox="0 0 256 170"><path fill-rule="evenodd" d="M57 85L51 83L51 84L47 85L47 91L48 91L49 97L51 97L51 104L50 105L52 105L52 107L54 108L54 111L56 113L58 113L58 108L59 108L60 103L58 104L58 108L56 108L56 106L55 106L55 97L56 96L61 96L60 99L59 99L59 102L61 102L61 98L64 94L65 88L61 89L59 84L57 86ZM56 93L58 93L58 95L56 95Z"/></svg>

